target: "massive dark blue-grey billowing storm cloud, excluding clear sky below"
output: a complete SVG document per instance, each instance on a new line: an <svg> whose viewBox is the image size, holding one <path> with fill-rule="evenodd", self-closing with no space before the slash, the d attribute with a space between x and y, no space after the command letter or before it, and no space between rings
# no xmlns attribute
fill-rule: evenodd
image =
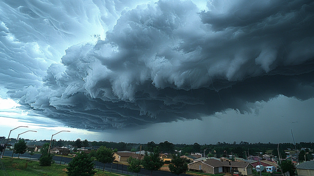
<svg viewBox="0 0 314 176"><path fill-rule="evenodd" d="M7 4L12 16L27 18L19 32L11 17L0 18L8 63L0 80L11 97L72 127L109 129L314 95L312 1L213 1L207 12L191 1L132 10L88 2ZM55 11L45 11L51 5ZM93 34L106 39L87 43ZM58 63L69 44L76 45Z"/></svg>

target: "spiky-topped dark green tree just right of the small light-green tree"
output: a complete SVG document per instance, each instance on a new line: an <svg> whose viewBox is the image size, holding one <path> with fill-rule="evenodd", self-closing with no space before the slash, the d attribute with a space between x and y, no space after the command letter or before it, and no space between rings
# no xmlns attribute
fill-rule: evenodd
<svg viewBox="0 0 314 176"><path fill-rule="evenodd" d="M155 170L159 170L163 165L164 161L159 157L159 148L154 148L154 153L145 152L145 156L142 160L142 165L144 169L150 170L150 175Z"/></svg>

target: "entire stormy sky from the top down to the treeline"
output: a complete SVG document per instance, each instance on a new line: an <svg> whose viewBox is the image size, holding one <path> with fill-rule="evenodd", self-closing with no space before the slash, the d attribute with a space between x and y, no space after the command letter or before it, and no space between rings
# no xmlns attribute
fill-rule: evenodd
<svg viewBox="0 0 314 176"><path fill-rule="evenodd" d="M314 141L310 0L0 2L0 136ZM28 129L29 130L29 129Z"/></svg>

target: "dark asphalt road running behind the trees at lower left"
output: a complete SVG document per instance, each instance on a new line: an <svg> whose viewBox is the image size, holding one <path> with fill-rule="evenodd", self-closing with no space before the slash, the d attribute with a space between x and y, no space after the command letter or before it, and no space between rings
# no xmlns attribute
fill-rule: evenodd
<svg viewBox="0 0 314 176"><path fill-rule="evenodd" d="M6 150L4 153L4 156L12 156L13 151L10 150ZM15 154L13 155L13 157L18 157L19 154ZM35 153L34 155L31 156L31 160L36 160L38 161L38 159L40 158L41 154ZM30 158L30 154L29 153L24 153L24 154L20 154L19 158ZM62 164L63 163L69 163L72 158L68 158L68 157L62 157L61 156L53 156L53 160L55 161L55 163L60 163L60 161L62 160ZM118 173L123 170L123 173L127 174L127 165L124 164L117 164L117 163L106 163L105 164L105 170L107 171L111 171L111 164L112 164L112 172L116 172L116 169L118 170ZM102 170L104 167L104 163L100 163L98 161L95 162L95 168L96 169L100 169ZM150 176L150 171L146 170L144 168L141 169L141 172L139 172L140 174L143 175L147 175ZM168 171L164 171L164 170L158 170L158 171L153 171L152 176L175 176L175 174L168 172ZM180 174L180 176L191 176L189 174Z"/></svg>

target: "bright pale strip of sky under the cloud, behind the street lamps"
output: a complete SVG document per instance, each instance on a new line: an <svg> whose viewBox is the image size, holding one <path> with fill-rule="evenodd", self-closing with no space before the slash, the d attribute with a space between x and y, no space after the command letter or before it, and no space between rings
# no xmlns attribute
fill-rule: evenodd
<svg viewBox="0 0 314 176"><path fill-rule="evenodd" d="M19 133L28 130L37 132L27 132L20 137L25 139L44 140L50 139L52 134L63 130L70 132L59 133L55 136L55 139L76 140L80 138L83 140L88 139L89 141L94 141L99 139L101 135L104 135L104 132L92 132L84 129L66 127L61 122L34 114L31 110L22 110L19 106L21 105L12 99L0 97L0 136L7 138L10 130L19 126L28 126L28 128L20 127L12 131L10 138L14 138Z"/></svg>

